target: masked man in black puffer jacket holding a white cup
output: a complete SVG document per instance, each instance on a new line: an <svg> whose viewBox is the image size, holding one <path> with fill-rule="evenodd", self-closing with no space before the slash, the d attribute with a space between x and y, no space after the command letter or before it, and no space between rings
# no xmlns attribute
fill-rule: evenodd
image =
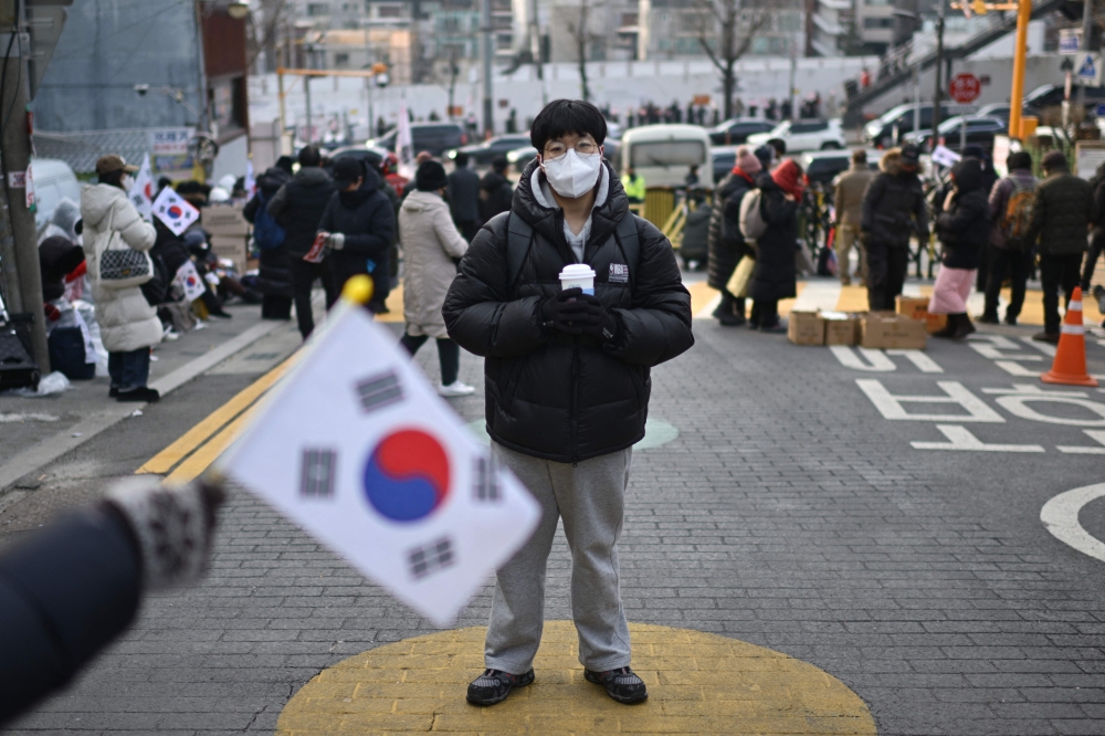
<svg viewBox="0 0 1105 736"><path fill-rule="evenodd" d="M509 214L472 241L442 308L450 337L485 358L493 458L543 507L534 536L498 571L487 671L469 686L469 701L480 705L533 682L560 516L585 675L621 703L648 695L629 669L615 544L632 446L644 437L649 370L694 338L671 243L629 212L601 158L606 134L590 103L558 99L541 111L530 132L538 159L526 167ZM593 269L593 295L560 290L569 264Z"/></svg>

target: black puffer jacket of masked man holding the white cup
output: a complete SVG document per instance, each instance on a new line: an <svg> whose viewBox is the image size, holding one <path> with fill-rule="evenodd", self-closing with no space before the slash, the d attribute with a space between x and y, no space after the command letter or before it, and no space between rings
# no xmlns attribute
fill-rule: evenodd
<svg viewBox="0 0 1105 736"><path fill-rule="evenodd" d="M600 176L608 177L609 190L592 212L583 262L598 274L594 294L618 319L618 337L602 343L546 329L541 304L560 291L560 271L576 257L564 235L564 212L543 207L532 191L536 168L536 161L526 167L511 214L495 218L473 239L442 315L450 337L486 358L491 438L527 455L576 462L644 437L649 369L694 344L691 295L671 243L645 220L636 220L640 255L627 264L614 230L633 215L613 169L603 165ZM534 230L513 284L507 283L508 218L522 218ZM614 264L629 265L629 283L610 281Z"/></svg>

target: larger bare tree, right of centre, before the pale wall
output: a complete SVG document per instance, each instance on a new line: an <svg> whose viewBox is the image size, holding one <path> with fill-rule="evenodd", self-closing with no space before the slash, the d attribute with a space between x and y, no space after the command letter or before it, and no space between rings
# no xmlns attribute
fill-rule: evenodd
<svg viewBox="0 0 1105 736"><path fill-rule="evenodd" d="M733 95L737 90L737 61L751 49L756 33L768 24L767 10L743 10L740 0L695 0L698 12L698 43L722 73L725 119L733 117Z"/></svg>

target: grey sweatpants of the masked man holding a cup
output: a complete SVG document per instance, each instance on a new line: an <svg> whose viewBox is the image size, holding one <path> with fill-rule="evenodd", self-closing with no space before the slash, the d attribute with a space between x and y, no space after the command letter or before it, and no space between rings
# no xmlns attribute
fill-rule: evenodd
<svg viewBox="0 0 1105 736"><path fill-rule="evenodd" d="M534 665L545 625L545 568L557 519L571 549L571 618L579 662L604 672L629 666L629 627L621 604L618 550L632 449L576 464L556 463L492 442L492 455L518 476L541 505L541 521L497 575L484 663L524 674Z"/></svg>

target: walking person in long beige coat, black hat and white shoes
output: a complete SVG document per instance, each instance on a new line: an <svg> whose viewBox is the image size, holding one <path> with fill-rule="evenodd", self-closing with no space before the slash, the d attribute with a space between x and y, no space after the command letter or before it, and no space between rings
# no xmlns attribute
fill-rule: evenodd
<svg viewBox="0 0 1105 736"><path fill-rule="evenodd" d="M469 243L456 230L443 194L449 186L445 169L438 161L424 161L414 175L415 190L399 209L399 242L403 249L403 319L407 329L400 340L413 356L429 338L438 343L441 386L444 397L475 391L460 381L461 348L449 338L441 307L456 277L456 259Z"/></svg>

